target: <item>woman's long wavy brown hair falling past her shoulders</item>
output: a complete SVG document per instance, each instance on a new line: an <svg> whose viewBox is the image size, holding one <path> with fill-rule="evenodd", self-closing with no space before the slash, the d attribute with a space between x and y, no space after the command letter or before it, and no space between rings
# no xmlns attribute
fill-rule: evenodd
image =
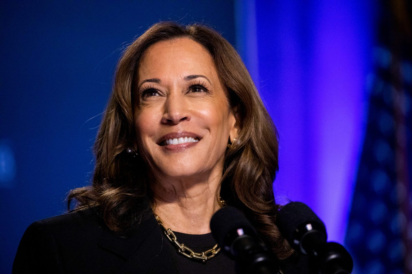
<svg viewBox="0 0 412 274"><path fill-rule="evenodd" d="M150 215L151 209L143 203L145 197L152 197L147 166L140 157L131 160L124 154L136 139L133 103L137 99L137 71L140 58L152 44L183 37L198 42L212 55L229 103L240 119L239 142L225 154L220 196L227 205L246 214L279 259L287 258L292 251L275 225L279 210L273 193L279 168L276 127L233 46L204 25L157 23L126 48L117 65L112 94L94 145L92 184L70 191L68 209L72 200L77 201L75 210L94 205L106 225L115 231L127 231Z"/></svg>

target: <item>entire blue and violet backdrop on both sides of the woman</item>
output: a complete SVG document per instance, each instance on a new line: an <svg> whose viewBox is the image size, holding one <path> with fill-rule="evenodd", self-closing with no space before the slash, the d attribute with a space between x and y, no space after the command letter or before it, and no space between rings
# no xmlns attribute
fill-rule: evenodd
<svg viewBox="0 0 412 274"><path fill-rule="evenodd" d="M278 201L307 203L343 243L376 2L2 1L0 269L30 223L65 212L67 192L89 183L115 64L160 20L207 23L235 46L279 129Z"/></svg>

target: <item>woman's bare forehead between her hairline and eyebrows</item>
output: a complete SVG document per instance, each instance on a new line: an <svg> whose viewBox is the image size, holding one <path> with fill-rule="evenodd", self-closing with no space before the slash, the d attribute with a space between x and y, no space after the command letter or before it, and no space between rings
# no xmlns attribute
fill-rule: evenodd
<svg viewBox="0 0 412 274"><path fill-rule="evenodd" d="M213 58L196 41L178 38L150 46L140 60L138 78L184 77L193 74L217 77Z"/></svg>

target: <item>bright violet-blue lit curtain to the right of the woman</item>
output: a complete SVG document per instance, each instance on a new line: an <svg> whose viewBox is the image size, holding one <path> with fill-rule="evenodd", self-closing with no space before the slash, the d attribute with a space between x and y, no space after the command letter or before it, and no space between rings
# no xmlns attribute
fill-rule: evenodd
<svg viewBox="0 0 412 274"><path fill-rule="evenodd" d="M337 242L344 240L365 130L372 2L255 1L255 21L237 25L251 36L238 46L251 49L243 59L258 73L256 85L279 130L275 195L307 203ZM258 71L250 65L254 48Z"/></svg>

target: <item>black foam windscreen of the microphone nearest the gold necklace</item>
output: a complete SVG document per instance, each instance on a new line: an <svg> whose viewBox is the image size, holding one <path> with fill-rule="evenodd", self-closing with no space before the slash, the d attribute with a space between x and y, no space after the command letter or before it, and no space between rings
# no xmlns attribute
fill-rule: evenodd
<svg viewBox="0 0 412 274"><path fill-rule="evenodd" d="M218 210L210 221L210 229L213 237L220 246L223 246L225 237L233 230L242 228L248 234L255 236L256 232L252 224L248 221L245 214L236 207L223 207Z"/></svg>

